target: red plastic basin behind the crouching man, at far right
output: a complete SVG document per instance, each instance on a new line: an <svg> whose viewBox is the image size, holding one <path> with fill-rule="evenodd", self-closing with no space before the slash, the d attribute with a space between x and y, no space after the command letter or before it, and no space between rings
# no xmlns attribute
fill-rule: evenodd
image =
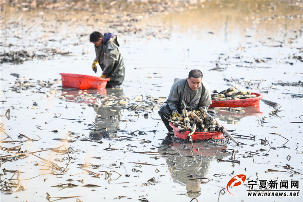
<svg viewBox="0 0 303 202"><path fill-rule="evenodd" d="M249 107L257 106L260 104L260 100L263 98L263 94L251 93L257 95L255 98L246 98L240 100L212 100L212 104L209 107Z"/></svg>

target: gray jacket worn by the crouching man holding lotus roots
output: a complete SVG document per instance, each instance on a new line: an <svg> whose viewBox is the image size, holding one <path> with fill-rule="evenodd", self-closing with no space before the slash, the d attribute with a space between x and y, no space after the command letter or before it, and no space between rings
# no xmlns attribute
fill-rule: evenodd
<svg viewBox="0 0 303 202"><path fill-rule="evenodd" d="M212 104L208 84L202 80L200 88L192 90L189 88L187 78L175 78L171 87L167 103L171 111L181 111L181 102L185 101L186 107L198 110L203 107L206 110Z"/></svg>

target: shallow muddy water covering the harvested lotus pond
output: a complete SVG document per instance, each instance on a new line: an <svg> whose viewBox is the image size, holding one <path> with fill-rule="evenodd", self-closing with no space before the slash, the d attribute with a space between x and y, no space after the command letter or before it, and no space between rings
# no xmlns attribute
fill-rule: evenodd
<svg viewBox="0 0 303 202"><path fill-rule="evenodd" d="M52 169L48 169L47 164L33 155L18 161L2 162L1 174L4 174L4 168L23 172L18 179L26 189L14 193L2 192L1 201L47 201L46 192L51 197L79 196L82 201L138 201L143 198L149 201L190 201L193 197L198 201L218 201L218 198L219 201L302 201L301 191L299 197L247 196L249 180L277 177L278 183L281 180L289 180L289 183L298 180L298 189L302 189L303 103L302 97L295 96L302 95L302 87L276 85L278 82L303 80L302 61L290 57L302 57L302 18L296 17L302 14L300 6L298 2L197 3L181 13L168 12L143 18L136 24L142 28L142 33L120 34L127 70L125 81L120 89L106 89L107 94L115 93L116 96L128 98L137 95L167 97L174 78L186 77L188 71L198 68L211 90L239 85L241 89L247 87L252 92L262 92L265 100L282 106L273 115L269 113L274 109L263 102L259 107L245 109L245 114L218 113L216 118L228 130L235 130L232 134L256 136L255 139L236 138L244 143L239 146L231 141L195 142L195 150L191 150L191 144L187 141L167 134L163 123L158 120L156 109L145 118L142 113L137 116L135 111L127 109L96 108L72 99L61 100L60 96L66 94L71 98L76 97L77 91L60 90L60 82L50 88L37 86L21 90L21 93L10 91L16 81L11 73L19 74L22 81L32 78L28 80L32 82L53 82L61 78L61 72L95 75L91 70L91 62L95 58L93 46L88 42L88 35L79 34L89 34L96 27L89 25L93 23L85 23L85 16L89 15L87 11L60 12L60 18L64 19L64 13L69 15L66 15L65 21L58 22L55 20L55 11L39 8L31 13L6 7L5 20L9 29L1 31L1 53L60 48L60 51L70 51L72 54L56 55L47 60L34 59L17 65L1 65L1 123L5 133L11 137L6 138L5 133L1 132L1 140L17 141L20 133L37 140L25 141L23 137L21 141L25 142L2 142L1 146L11 148L21 145L21 151L33 152L66 145L71 160L66 154L54 151L34 153L66 168L64 175L51 173ZM38 15L41 12L44 14ZM96 18L102 16L96 14ZM75 17L78 20L71 22ZM17 20L20 23L12 26L12 22ZM31 28L35 21L45 26L35 25ZM106 22L99 26L108 27ZM28 29L30 34L25 32ZM108 28L112 32L116 29ZM13 46L8 47L10 43ZM257 59L266 62L255 62ZM217 70L211 70L214 68ZM218 71L218 68L222 71ZM101 75L100 69L97 75ZM51 94L50 90L56 93ZM48 96L39 91L46 92ZM34 102L38 105L33 106ZM7 109L10 109L9 119L5 117ZM261 122L263 118L264 122ZM92 123L95 127L90 125ZM107 127L107 130L98 130L102 127ZM58 133L52 132L54 130ZM94 142L84 136L74 142L60 140L72 139L80 134ZM260 139L266 139L268 144L261 144ZM232 149L240 164L217 161L218 158L228 160L231 154L222 150ZM178 155L133 153L147 151ZM1 155L7 154L1 151ZM35 166L36 163L38 166ZM92 177L80 167L83 164L89 165L83 169L102 175ZM293 169L285 169L285 165ZM281 172L265 172L267 169ZM121 176L112 172L108 177L102 171L116 171ZM219 197L220 190L226 188L231 177L237 174L245 174L249 178L241 186L231 189L237 198L226 189L226 193L222 195L222 191ZM7 175L1 176L1 180L6 181L5 178L11 177L12 173L7 172ZM203 177L209 181L191 180ZM53 187L60 183L72 183L77 187ZM76 198L62 198L60 201L76 201Z"/></svg>

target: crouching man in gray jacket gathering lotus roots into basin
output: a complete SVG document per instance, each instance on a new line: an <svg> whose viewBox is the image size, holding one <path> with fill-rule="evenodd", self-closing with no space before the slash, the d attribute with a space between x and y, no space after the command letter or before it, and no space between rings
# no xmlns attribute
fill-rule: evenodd
<svg viewBox="0 0 303 202"><path fill-rule="evenodd" d="M184 101L188 110L198 110L199 107L208 110L211 102L211 95L208 84L202 80L203 74L200 70L191 70L188 78L175 78L171 87L168 99L161 106L158 114L169 132L172 128L169 126L168 119L178 116L181 111L181 103Z"/></svg>

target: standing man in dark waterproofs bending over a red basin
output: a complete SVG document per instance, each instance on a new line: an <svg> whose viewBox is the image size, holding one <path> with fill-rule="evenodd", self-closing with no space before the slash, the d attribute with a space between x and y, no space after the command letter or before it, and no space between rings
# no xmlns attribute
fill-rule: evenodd
<svg viewBox="0 0 303 202"><path fill-rule="evenodd" d="M92 64L92 69L97 72L97 64L102 68L102 76L100 78L110 78L106 88L117 87L122 84L125 75L125 67L123 57L118 43L118 37L113 33L105 33L102 35L98 31L94 31L89 39L95 44L96 58Z"/></svg>

